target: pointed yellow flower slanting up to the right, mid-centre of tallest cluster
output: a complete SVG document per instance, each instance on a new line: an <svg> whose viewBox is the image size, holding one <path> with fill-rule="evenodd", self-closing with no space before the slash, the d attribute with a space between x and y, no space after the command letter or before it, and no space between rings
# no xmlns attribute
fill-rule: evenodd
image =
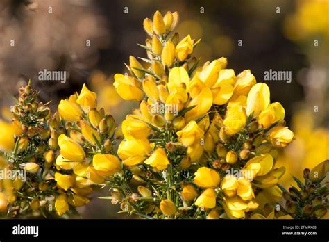
<svg viewBox="0 0 329 242"><path fill-rule="evenodd" d="M205 115L212 106L212 93L210 88L203 89L198 96L194 97L187 105L187 107L190 106L194 106L194 108L185 113L186 122L196 120L202 115Z"/></svg>

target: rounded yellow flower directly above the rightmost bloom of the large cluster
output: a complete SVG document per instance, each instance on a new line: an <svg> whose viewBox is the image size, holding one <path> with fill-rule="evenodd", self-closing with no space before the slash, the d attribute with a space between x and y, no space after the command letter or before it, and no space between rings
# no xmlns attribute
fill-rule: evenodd
<svg viewBox="0 0 329 242"><path fill-rule="evenodd" d="M258 115L258 123L264 128L268 128L271 124L283 120L285 118L285 108L279 102L269 104L260 115Z"/></svg>

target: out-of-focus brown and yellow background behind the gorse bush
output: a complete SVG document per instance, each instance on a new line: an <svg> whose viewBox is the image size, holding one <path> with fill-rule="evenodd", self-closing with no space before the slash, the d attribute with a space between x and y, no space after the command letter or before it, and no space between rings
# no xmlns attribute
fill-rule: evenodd
<svg viewBox="0 0 329 242"><path fill-rule="evenodd" d="M1 0L1 117L10 119L17 88L31 79L53 108L87 83L120 124L135 104L116 94L112 76L126 72L129 55L146 56L136 43L144 44L142 22L155 10L180 13L176 31L201 38L201 63L225 56L236 74L250 69L269 85L296 134L277 163L287 167L282 184L329 158L329 0ZM44 69L65 70L67 81L39 81ZM292 72L292 82L264 81L270 69ZM82 217L126 218L103 195L94 194Z"/></svg>

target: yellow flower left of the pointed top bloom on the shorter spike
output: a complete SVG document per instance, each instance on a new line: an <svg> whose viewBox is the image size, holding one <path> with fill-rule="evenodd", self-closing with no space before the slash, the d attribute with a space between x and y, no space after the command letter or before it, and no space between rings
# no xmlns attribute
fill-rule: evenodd
<svg viewBox="0 0 329 242"><path fill-rule="evenodd" d="M82 111L76 102L70 102L68 99L60 100L58 113L66 121L76 122L80 120Z"/></svg>

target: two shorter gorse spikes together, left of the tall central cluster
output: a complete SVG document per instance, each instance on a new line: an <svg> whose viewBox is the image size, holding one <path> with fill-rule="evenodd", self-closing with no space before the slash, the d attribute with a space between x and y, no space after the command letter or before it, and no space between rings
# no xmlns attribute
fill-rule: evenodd
<svg viewBox="0 0 329 242"><path fill-rule="evenodd" d="M0 122L1 214L76 213L89 202L92 185L121 169L110 154L114 120L96 110L96 95L85 86L51 115L28 83L19 89L12 114L11 124Z"/></svg>

